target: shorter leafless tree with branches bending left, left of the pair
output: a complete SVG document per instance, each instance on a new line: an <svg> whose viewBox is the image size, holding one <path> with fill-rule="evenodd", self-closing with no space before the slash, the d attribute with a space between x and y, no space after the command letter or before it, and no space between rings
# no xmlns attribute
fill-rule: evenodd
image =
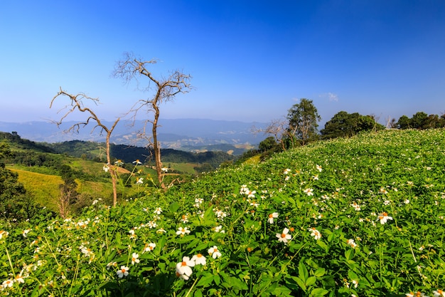
<svg viewBox="0 0 445 297"><path fill-rule="evenodd" d="M79 110L82 113L87 113L88 118L87 120L85 120L85 122L80 122L80 123L75 123L74 125L72 125L71 127L68 128L67 132L79 132L81 127L85 127L86 125L88 125L90 123L90 121L95 122L96 125L92 128L91 132L93 132L97 127L99 127L101 130L100 132L106 132L107 133L107 137L106 137L106 147L105 147L105 151L107 154L107 168L111 167L112 170L108 170L109 174L111 175L112 178L112 184L113 184L113 206L116 206L117 204L117 172L116 170L113 170L113 167L111 165L111 156L110 156L110 149L109 149L109 138L112 135L112 132L114 130L114 127L116 127L117 123L119 122L120 118L117 118L116 121L114 121L112 127L107 127L105 126L102 121L100 120L99 117L97 117L96 113L91 110L90 108L86 108L82 102L82 100L92 100L93 103L97 104L99 102L98 98L91 98L88 97L87 95L85 95L85 93L78 93L77 95L71 95L66 93L64 90L62 90L62 88L60 88L60 91L57 93L57 95L54 96L53 100L51 100L50 103L50 108L53 107L53 103L55 101L56 98L58 98L59 96L67 96L68 98L70 98L70 105L65 105L65 110L66 113L62 116L62 118L60 118L59 121L55 121L54 123L59 127L63 120L65 120L65 118L68 117L68 115L70 115L71 113L74 113L75 110Z"/></svg>

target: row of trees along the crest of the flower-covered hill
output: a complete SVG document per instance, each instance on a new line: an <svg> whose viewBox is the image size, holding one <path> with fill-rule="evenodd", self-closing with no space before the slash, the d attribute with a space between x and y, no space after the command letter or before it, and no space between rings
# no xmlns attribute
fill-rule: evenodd
<svg viewBox="0 0 445 297"><path fill-rule="evenodd" d="M245 152L237 163L244 162L254 155L261 155L261 159L269 157L275 152L289 150L309 142L328 140L336 137L352 137L360 132L378 131L385 128L392 129L431 129L445 127L445 114L427 115L418 112L408 118L402 115L396 122L395 119L388 120L386 127L377 123L374 115L360 115L360 113L348 113L344 110L328 120L323 129L318 130L318 122L321 120L313 101L302 98L300 103L294 104L284 120L274 120L264 130L271 135L259 143L257 150Z"/></svg>

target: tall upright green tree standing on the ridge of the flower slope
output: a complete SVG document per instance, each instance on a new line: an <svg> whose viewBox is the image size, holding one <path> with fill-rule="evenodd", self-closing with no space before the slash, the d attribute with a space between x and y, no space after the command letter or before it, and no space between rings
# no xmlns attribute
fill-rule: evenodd
<svg viewBox="0 0 445 297"><path fill-rule="evenodd" d="M291 146L295 147L294 139L301 145L318 139L318 122L321 120L318 110L312 100L302 98L300 103L294 104L287 113L289 121L288 131L292 135Z"/></svg>

